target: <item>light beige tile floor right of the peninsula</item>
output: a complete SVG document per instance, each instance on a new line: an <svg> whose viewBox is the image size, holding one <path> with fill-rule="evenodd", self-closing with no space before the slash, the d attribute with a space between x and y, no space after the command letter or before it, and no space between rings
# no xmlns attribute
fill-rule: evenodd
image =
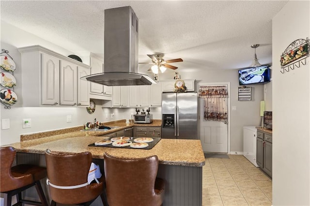
<svg viewBox="0 0 310 206"><path fill-rule="evenodd" d="M271 206L272 180L243 155L206 158L202 206Z"/></svg>

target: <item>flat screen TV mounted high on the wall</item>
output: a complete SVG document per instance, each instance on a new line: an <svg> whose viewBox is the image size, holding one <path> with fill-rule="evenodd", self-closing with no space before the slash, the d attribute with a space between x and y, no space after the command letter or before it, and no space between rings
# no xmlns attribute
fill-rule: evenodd
<svg viewBox="0 0 310 206"><path fill-rule="evenodd" d="M269 65L240 69L238 73L239 85L270 82Z"/></svg>

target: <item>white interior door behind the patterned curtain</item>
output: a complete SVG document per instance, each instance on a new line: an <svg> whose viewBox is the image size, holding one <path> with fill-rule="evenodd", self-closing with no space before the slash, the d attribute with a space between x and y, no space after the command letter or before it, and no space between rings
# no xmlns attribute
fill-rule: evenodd
<svg viewBox="0 0 310 206"><path fill-rule="evenodd" d="M209 85L208 86L222 86L222 85ZM226 85L228 86L228 85ZM229 87L228 87L229 88ZM228 96L230 96L230 89L228 89ZM214 152L214 153L228 153L229 149L229 138L228 138L228 121L213 121L205 120L204 115L204 99L199 98L199 136L202 143L203 152ZM229 108L229 101L227 103L227 108ZM229 111L229 110L227 110ZM228 112L230 116L230 112ZM228 118L230 119L230 118Z"/></svg>

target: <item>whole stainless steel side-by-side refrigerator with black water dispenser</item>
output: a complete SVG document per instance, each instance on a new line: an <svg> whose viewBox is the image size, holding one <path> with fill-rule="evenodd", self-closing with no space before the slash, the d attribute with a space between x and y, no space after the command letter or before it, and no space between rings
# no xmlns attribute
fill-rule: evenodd
<svg viewBox="0 0 310 206"><path fill-rule="evenodd" d="M162 93L161 137L198 139L197 93Z"/></svg>

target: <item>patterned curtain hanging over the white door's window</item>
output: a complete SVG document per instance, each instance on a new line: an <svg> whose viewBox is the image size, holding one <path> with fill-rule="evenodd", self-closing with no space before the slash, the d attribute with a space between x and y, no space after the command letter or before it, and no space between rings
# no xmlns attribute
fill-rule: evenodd
<svg viewBox="0 0 310 206"><path fill-rule="evenodd" d="M228 121L226 86L199 86L199 97L204 98L205 120Z"/></svg>

